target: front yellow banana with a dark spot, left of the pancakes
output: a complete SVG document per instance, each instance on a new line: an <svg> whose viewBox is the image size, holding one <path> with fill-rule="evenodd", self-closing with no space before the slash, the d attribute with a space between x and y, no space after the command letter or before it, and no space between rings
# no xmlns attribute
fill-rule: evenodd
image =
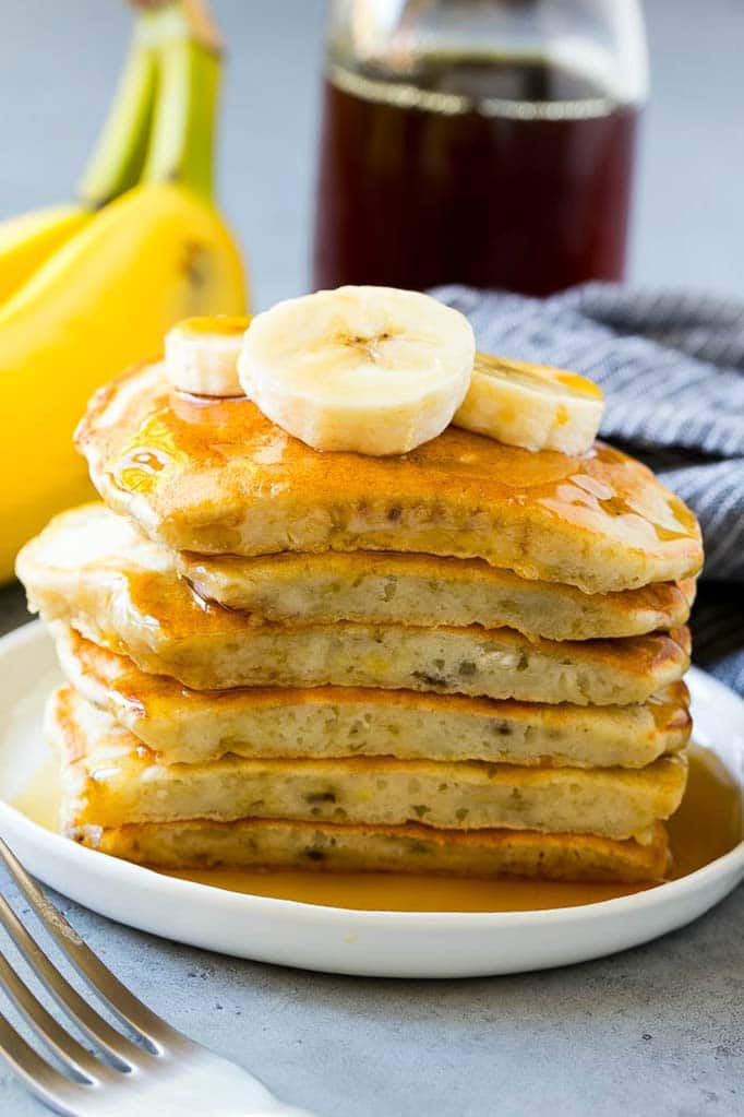
<svg viewBox="0 0 744 1117"><path fill-rule="evenodd" d="M241 314L230 231L192 191L135 187L0 311L0 580L49 516L86 498L73 430L95 388L160 353L180 318Z"/></svg>

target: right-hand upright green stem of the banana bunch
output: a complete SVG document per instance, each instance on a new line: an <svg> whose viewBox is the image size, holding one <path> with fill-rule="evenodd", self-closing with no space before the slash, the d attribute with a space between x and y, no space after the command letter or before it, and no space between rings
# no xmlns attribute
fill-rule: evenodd
<svg viewBox="0 0 744 1117"><path fill-rule="evenodd" d="M158 95L141 181L180 182L212 201L221 69L216 28L203 0L166 3L151 18L161 21Z"/></svg>

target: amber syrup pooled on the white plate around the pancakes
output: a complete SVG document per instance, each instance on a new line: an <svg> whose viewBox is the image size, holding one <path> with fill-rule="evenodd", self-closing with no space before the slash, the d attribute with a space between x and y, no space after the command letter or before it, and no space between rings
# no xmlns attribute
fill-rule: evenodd
<svg viewBox="0 0 744 1117"><path fill-rule="evenodd" d="M674 859L670 879L703 868L742 840L742 800L736 782L711 750L693 745L688 755L687 791L682 806L667 823ZM12 805L39 825L57 829L57 771L52 761L37 771ZM299 870L206 869L168 876L253 896L373 911L540 911L597 904L644 890L637 885Z"/></svg>

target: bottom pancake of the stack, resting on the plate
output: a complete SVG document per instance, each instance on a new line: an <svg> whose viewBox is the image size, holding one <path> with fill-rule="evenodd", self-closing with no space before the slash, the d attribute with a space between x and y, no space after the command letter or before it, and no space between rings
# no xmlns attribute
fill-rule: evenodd
<svg viewBox="0 0 744 1117"><path fill-rule="evenodd" d="M651 884L668 862L659 823L648 844L592 834L528 830L432 830L342 827L330 822L243 819L240 822L84 827L78 841L156 869L307 869L321 872L405 872L457 877Z"/></svg>

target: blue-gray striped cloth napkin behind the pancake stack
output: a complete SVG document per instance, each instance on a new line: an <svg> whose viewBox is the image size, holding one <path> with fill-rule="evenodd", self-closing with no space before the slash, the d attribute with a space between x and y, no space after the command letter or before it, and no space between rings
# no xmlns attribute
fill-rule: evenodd
<svg viewBox="0 0 744 1117"><path fill-rule="evenodd" d="M744 695L744 303L612 284L547 299L432 294L467 315L479 349L601 385L602 436L646 461L702 524L694 657Z"/></svg>

